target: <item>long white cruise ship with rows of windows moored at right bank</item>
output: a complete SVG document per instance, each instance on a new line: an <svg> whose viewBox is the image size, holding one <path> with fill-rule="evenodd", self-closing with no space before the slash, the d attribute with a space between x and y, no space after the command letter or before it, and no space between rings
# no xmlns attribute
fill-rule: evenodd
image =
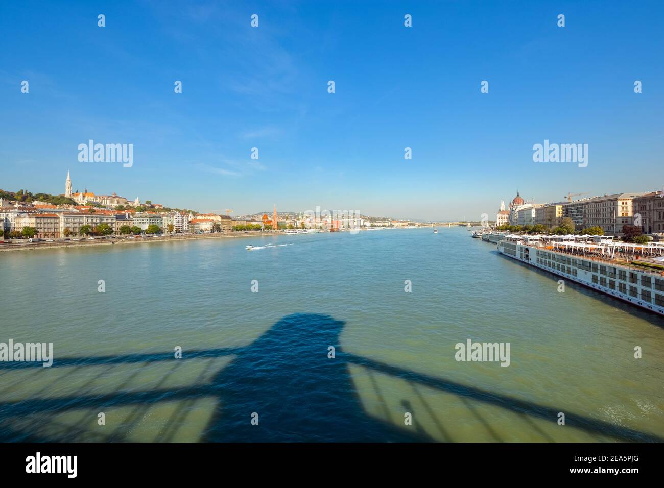
<svg viewBox="0 0 664 488"><path fill-rule="evenodd" d="M517 261L664 316L664 271L655 264L664 256L663 243L576 242L573 236L554 240L557 238L505 235L497 247Z"/></svg>

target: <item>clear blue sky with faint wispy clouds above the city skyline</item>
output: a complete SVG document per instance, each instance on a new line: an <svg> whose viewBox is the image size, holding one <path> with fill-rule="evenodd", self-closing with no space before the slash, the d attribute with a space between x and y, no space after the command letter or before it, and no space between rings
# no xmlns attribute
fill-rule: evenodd
<svg viewBox="0 0 664 488"><path fill-rule="evenodd" d="M0 188L64 193L69 170L199 211L419 219L493 216L517 188L659 189L663 18L661 1L3 2ZM79 162L88 139L132 143L133 167ZM587 143L588 167L534 163L544 139Z"/></svg>

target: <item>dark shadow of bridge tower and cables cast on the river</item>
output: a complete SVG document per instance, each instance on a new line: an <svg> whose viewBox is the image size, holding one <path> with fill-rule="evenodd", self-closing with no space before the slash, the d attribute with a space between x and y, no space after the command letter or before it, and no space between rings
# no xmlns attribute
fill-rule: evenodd
<svg viewBox="0 0 664 488"><path fill-rule="evenodd" d="M135 354L119 357L80 357L55 359L50 368L41 363L0 363L0 441L110 441L182 440L176 432L187 426L189 414L201 409L197 402L207 400L205 422L185 440L205 442L430 442L434 440L478 440L453 438L450 427L457 421L426 400L423 390L452 396L467 408L467 416L485 428L481 440L501 441L501 434L482 414L489 406L523 420L539 440L551 441L542 430L542 421L556 425L558 412L566 412L566 427L584 431L598 440L661 441L658 436L624 426L610 424L510 396L460 384L445 378L428 376L398 366L346 353L340 346L344 322L328 315L297 313L275 323L256 341L236 349L183 351L182 359L173 353ZM335 358L328 348L335 347ZM224 364L214 370L214 361ZM197 377L180 386L167 386L183 365L199 361ZM161 378L152 388L127 388L143 368L158 365ZM90 385L100 376L116 375L117 366L125 366L125 376L111 392L98 392ZM49 370L70 368L68 374L26 398L5 400L7 392L20 388L13 373L48 374ZM35 371L35 368L38 370ZM72 394L48 396L58 382L72 378L86 368L95 368ZM365 386L362 396L355 373L362 371ZM376 377L393 378L408 385L410 394L398 402L398 411L388 408ZM377 399L383 415L367 412L365 390ZM393 396L393 392L392 392ZM159 419L148 416L155 406L174 406ZM415 406L416 405L416 406ZM117 424L98 427L97 412L122 409ZM412 425L404 424L404 414L412 414ZM258 425L252 425L252 414ZM62 422L63 416L80 416ZM430 430L421 419L428 418ZM155 435L150 438L129 436L149 417ZM396 422L390 419L396 418ZM524 427L525 426L525 427ZM432 430L435 436L430 434Z"/></svg>

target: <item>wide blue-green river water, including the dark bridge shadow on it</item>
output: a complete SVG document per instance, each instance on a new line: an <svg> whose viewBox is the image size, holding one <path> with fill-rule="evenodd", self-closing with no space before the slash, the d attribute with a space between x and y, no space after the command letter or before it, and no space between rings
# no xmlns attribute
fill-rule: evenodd
<svg viewBox="0 0 664 488"><path fill-rule="evenodd" d="M664 439L664 320L465 228L3 252L0 277L0 343L54 355L0 362L0 440ZM468 339L509 366L456 361Z"/></svg>

